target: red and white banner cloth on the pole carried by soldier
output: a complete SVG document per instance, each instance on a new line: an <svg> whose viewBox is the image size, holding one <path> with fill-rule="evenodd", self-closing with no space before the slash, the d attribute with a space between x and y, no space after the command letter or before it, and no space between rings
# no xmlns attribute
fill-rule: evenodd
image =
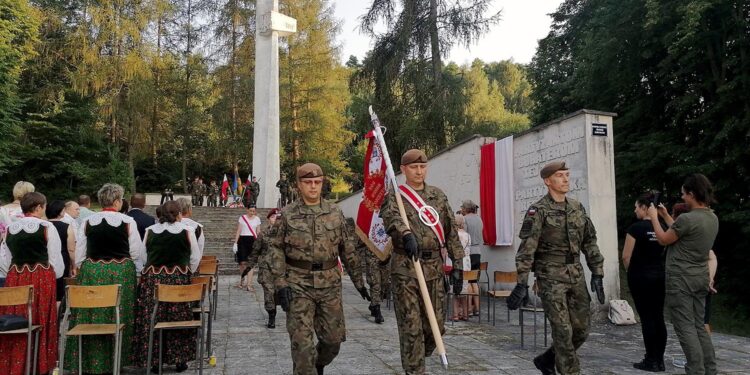
<svg viewBox="0 0 750 375"><path fill-rule="evenodd" d="M365 153L364 189L357 211L357 236L378 259L386 260L391 253L391 243L380 218L380 205L385 199L385 159L378 141L371 131L365 136L370 141Z"/></svg>

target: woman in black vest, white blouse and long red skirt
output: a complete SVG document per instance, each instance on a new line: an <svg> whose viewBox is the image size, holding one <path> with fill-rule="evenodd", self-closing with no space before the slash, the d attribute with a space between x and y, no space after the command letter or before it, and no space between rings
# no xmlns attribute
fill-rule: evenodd
<svg viewBox="0 0 750 375"><path fill-rule="evenodd" d="M0 246L0 277L7 275L6 287L34 286L32 323L41 326L37 372L45 374L57 359L55 279L62 276L65 265L55 226L42 220L47 199L32 192L24 195L20 204L24 217L8 227L6 241ZM27 317L26 305L0 307L1 314ZM25 370L26 336L3 336L0 375L23 374Z"/></svg>

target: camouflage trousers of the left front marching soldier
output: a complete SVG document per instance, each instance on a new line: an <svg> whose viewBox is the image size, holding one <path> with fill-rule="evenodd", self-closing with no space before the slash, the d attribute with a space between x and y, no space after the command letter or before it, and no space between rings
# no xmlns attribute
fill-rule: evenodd
<svg viewBox="0 0 750 375"><path fill-rule="evenodd" d="M290 284L292 302L286 328L292 342L295 375L315 375L315 366L327 366L346 341L341 285L330 288ZM317 336L315 344L313 334Z"/></svg>

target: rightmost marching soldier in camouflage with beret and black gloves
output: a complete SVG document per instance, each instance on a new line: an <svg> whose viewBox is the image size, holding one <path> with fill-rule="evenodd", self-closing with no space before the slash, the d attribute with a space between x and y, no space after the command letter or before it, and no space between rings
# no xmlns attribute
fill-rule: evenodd
<svg viewBox="0 0 750 375"><path fill-rule="evenodd" d="M552 327L552 347L534 358L542 374L581 373L576 350L586 341L591 319L591 297L581 253L591 270L591 291L604 303L604 258L596 244L596 230L580 202L568 198L570 172L565 162L552 162L540 171L548 194L526 211L521 245L516 255L518 284L507 299L515 310L527 296L527 279L534 271L544 311Z"/></svg>

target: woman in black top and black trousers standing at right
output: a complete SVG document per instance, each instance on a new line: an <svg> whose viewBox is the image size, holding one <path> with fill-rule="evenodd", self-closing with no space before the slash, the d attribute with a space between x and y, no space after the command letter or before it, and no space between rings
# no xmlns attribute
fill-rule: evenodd
<svg viewBox="0 0 750 375"><path fill-rule="evenodd" d="M635 201L638 221L628 227L622 262L628 273L628 286L641 317L646 356L633 367L651 372L664 371L667 327L664 324L664 246L659 244L648 207L659 204L659 193L647 193ZM661 224L659 224L661 226Z"/></svg>

